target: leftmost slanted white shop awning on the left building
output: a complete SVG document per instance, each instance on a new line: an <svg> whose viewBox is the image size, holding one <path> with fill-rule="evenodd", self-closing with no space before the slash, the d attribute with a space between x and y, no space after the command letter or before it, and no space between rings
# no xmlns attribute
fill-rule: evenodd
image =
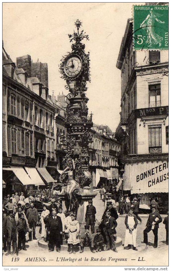
<svg viewBox="0 0 171 271"><path fill-rule="evenodd" d="M23 185L35 184L23 167L3 167L2 170L13 171Z"/></svg>

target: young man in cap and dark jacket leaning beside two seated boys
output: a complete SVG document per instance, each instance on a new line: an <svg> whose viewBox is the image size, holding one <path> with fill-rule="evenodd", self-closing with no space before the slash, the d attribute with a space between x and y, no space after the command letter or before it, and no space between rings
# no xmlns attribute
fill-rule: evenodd
<svg viewBox="0 0 171 271"><path fill-rule="evenodd" d="M114 217L111 216L111 212L107 211L105 219L103 221L104 224L104 234L107 241L106 250L112 249L115 252L118 252L115 247L114 234L116 234L115 228L117 227L117 222Z"/></svg>

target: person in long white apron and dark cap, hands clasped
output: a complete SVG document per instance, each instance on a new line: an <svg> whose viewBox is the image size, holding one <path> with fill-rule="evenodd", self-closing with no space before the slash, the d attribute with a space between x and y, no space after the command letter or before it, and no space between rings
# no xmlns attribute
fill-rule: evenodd
<svg viewBox="0 0 171 271"><path fill-rule="evenodd" d="M136 231L137 231L137 224L138 220L136 215L133 214L133 208L129 208L129 212L125 217L125 242L124 242L124 249L131 249L131 245L133 245L133 250L138 250L136 248Z"/></svg>

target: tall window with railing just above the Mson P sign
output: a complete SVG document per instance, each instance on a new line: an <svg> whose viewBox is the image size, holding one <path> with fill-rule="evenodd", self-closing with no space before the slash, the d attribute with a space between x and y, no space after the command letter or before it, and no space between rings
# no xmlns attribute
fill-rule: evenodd
<svg viewBox="0 0 171 271"><path fill-rule="evenodd" d="M149 107L158 107L161 105L160 83L151 84L149 88Z"/></svg>

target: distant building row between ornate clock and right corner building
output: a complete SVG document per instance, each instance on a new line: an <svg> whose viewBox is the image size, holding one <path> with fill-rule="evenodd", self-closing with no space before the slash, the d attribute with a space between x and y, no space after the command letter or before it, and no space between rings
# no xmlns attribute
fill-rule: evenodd
<svg viewBox="0 0 171 271"><path fill-rule="evenodd" d="M119 180L120 143L114 138L114 133L107 125L94 124L90 134L93 142L89 144L89 164L93 177L93 187L106 185L109 180Z"/></svg>

